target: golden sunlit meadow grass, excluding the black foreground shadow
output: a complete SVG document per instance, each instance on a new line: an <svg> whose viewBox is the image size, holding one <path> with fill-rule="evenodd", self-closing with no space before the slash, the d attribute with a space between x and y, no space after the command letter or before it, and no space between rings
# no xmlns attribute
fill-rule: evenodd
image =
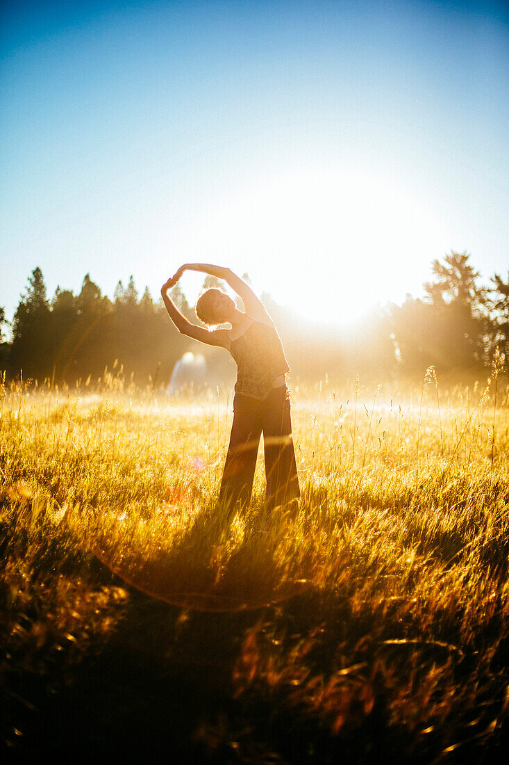
<svg viewBox="0 0 509 765"><path fill-rule="evenodd" d="M408 757L496 740L509 688L498 369L448 392L433 370L405 394L294 386L302 498L270 515L261 455L250 508L218 506L226 396L168 399L118 375L96 392L0 396L4 672L47 672L55 652L71 666L115 628L128 591L99 559L182 607L261 608L232 682L246 714L274 711L276 737L291 713L297 738L303 724L343 741L378 724Z"/></svg>

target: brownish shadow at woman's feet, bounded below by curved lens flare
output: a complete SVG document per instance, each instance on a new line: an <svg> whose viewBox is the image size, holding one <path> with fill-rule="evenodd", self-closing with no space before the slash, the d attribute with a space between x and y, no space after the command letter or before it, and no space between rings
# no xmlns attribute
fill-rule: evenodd
<svg viewBox="0 0 509 765"><path fill-rule="evenodd" d="M288 573L288 515L276 510L270 519L263 512L246 514L234 544L234 517L219 508L199 513L170 549L163 529L146 550L98 532L92 552L125 582L173 606L212 613L270 607L308 584L301 568Z"/></svg>

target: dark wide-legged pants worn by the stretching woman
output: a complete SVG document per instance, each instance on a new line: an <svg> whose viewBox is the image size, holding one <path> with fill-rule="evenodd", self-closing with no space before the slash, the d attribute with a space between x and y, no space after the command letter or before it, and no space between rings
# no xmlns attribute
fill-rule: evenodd
<svg viewBox="0 0 509 765"><path fill-rule="evenodd" d="M267 507L271 509L300 496L287 387L274 388L264 401L236 394L233 413L219 500L232 507L237 503L248 504L262 432Z"/></svg>

